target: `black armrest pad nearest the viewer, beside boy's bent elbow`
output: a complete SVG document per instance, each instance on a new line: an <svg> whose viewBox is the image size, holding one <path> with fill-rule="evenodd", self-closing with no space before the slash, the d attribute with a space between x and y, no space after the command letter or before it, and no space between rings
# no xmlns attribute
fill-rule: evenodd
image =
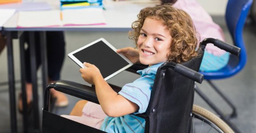
<svg viewBox="0 0 256 133"><path fill-rule="evenodd" d="M54 89L74 97L82 98L84 100L99 104L96 90L93 87L85 86L72 81L59 80L54 83Z"/></svg>

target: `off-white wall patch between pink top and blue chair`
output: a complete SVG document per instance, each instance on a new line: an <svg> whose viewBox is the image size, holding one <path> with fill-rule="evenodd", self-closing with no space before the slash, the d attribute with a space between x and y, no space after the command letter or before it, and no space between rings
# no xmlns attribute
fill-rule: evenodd
<svg viewBox="0 0 256 133"><path fill-rule="evenodd" d="M210 15L224 16L228 0L196 0Z"/></svg>

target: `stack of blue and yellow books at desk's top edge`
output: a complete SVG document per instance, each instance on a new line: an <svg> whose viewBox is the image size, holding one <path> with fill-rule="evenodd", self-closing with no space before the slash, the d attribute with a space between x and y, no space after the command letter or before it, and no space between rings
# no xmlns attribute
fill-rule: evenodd
<svg viewBox="0 0 256 133"><path fill-rule="evenodd" d="M102 0L61 0L61 10L103 8Z"/></svg>

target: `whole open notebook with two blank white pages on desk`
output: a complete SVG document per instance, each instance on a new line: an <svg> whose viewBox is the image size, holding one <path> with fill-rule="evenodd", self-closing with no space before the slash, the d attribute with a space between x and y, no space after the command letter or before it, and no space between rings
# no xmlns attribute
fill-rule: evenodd
<svg viewBox="0 0 256 133"><path fill-rule="evenodd" d="M61 20L62 14L62 20ZM102 8L19 12L17 28L106 24Z"/></svg>

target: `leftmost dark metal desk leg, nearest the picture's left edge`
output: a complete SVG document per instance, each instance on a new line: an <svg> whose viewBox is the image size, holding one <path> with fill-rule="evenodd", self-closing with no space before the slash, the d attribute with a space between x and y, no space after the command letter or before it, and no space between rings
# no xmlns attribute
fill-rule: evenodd
<svg viewBox="0 0 256 133"><path fill-rule="evenodd" d="M11 132L17 133L16 104L15 104L15 84L14 84L14 64L13 64L13 41L11 32L6 32L6 44L8 54L8 78L9 78L9 98L11 113Z"/></svg>

